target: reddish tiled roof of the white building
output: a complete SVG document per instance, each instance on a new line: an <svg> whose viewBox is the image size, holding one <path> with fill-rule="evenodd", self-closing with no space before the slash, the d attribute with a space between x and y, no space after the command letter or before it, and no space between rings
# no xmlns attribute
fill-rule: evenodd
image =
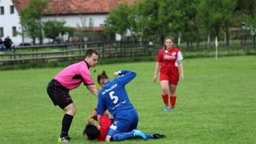
<svg viewBox="0 0 256 144"><path fill-rule="evenodd" d="M29 0L12 0L18 12L28 6ZM118 4L132 4L133 0L50 0L44 14L108 13Z"/></svg>

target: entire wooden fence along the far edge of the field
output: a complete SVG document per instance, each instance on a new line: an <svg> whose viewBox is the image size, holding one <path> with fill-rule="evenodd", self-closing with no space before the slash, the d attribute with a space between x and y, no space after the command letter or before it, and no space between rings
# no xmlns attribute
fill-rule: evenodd
<svg viewBox="0 0 256 144"><path fill-rule="evenodd" d="M29 61L48 62L51 60L83 60L88 49L100 53L100 58L134 58L156 56L161 46L148 42L123 42L123 43L77 43L77 44L45 44L15 47L12 51L0 54L0 65L14 65ZM201 44L194 47L181 45L183 54L188 57L214 56L214 44ZM255 54L255 44L219 44L219 51L228 55L238 55L241 52ZM221 54L221 53L220 53ZM187 56L187 55L186 55Z"/></svg>

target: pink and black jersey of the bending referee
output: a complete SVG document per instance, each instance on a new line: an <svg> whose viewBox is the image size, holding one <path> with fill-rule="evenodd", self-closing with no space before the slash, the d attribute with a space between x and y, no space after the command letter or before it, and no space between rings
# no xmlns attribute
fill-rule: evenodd
<svg viewBox="0 0 256 144"><path fill-rule="evenodd" d="M68 90L75 89L82 82L84 85L94 84L89 71L89 66L84 60L64 68L54 77L54 79Z"/></svg>

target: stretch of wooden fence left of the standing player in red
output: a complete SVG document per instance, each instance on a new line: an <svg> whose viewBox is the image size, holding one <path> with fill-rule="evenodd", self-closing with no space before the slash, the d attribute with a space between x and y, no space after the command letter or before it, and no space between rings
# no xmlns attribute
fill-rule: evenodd
<svg viewBox="0 0 256 144"><path fill-rule="evenodd" d="M0 65L20 64L28 61L82 60L88 49L100 53L100 58L123 58L156 55L156 45L148 42L46 44L14 47L0 54Z"/></svg>

